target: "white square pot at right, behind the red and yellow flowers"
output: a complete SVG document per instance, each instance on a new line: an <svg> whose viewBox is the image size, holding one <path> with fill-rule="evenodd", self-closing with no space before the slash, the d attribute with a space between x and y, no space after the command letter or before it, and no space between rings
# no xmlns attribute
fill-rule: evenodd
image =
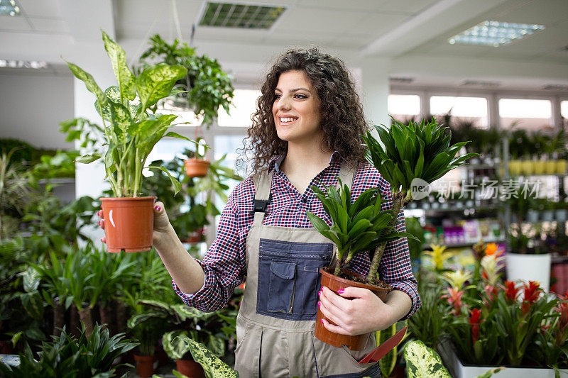
<svg viewBox="0 0 568 378"><path fill-rule="evenodd" d="M550 253L544 255L525 255L507 253L506 267L509 281L537 281L545 292L550 289Z"/></svg>

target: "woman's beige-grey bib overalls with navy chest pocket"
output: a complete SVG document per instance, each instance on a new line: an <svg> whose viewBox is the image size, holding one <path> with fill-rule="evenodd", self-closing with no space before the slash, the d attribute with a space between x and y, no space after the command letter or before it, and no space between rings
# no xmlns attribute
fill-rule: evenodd
<svg viewBox="0 0 568 378"><path fill-rule="evenodd" d="M355 169L339 177L351 187ZM255 205L270 198L272 174L254 178ZM236 318L235 369L241 378L381 377L378 363L357 365L376 348L372 334L359 352L314 337L320 267L337 247L315 228L265 226L266 206L255 206L246 240L246 287Z"/></svg>

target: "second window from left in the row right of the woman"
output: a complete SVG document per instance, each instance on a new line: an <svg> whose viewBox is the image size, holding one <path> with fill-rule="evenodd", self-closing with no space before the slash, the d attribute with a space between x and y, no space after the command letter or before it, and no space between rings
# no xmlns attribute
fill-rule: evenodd
<svg viewBox="0 0 568 378"><path fill-rule="evenodd" d="M431 96L430 113L437 119L448 114L452 123L471 123L478 128L488 128L487 99L485 97Z"/></svg>

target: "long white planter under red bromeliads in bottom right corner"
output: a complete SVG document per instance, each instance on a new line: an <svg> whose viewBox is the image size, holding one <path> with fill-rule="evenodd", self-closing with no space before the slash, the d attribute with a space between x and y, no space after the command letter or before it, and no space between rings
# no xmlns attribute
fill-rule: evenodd
<svg viewBox="0 0 568 378"><path fill-rule="evenodd" d="M448 369L453 378L476 378L481 374L495 369L496 366L474 366L464 365L454 352L453 346L449 342L438 345L437 350L444 366ZM568 374L567 369L560 369L560 377ZM498 372L495 378L554 378L555 371L548 367L506 367Z"/></svg>

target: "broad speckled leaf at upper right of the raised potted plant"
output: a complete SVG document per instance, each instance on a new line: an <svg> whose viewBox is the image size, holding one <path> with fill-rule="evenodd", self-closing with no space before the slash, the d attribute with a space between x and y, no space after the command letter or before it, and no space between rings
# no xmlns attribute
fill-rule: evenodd
<svg viewBox="0 0 568 378"><path fill-rule="evenodd" d="M154 65L143 70L136 78L136 89L140 96L143 113L148 106L153 106L159 99L170 95L175 82L182 79L187 70L182 66L170 66L165 63Z"/></svg>

